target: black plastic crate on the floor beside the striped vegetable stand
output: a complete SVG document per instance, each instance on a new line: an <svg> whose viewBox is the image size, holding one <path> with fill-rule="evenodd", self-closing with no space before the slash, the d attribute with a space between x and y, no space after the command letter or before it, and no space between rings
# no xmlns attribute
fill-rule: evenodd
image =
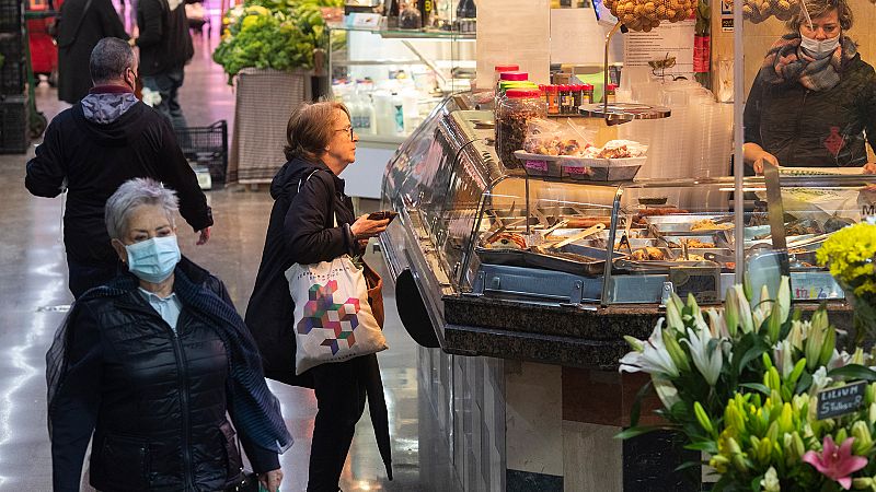
<svg viewBox="0 0 876 492"><path fill-rule="evenodd" d="M177 128L176 140L189 162L210 169L210 179L214 184L226 183L228 122L224 119L208 127Z"/></svg>

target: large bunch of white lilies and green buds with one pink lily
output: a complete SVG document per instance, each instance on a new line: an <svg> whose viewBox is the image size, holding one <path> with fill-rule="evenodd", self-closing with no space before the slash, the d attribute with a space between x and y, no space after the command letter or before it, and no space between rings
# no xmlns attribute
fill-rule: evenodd
<svg viewBox="0 0 876 492"><path fill-rule="evenodd" d="M639 398L653 388L666 423L637 426L637 401L619 437L680 432L719 475L715 491L876 491L873 354L838 351L823 306L808 320L792 312L787 278L775 297L751 297L736 285L723 312L704 313L693 296L672 296L648 340L627 338L620 370L650 375ZM853 380L867 383L848 412L819 413L822 390Z"/></svg>

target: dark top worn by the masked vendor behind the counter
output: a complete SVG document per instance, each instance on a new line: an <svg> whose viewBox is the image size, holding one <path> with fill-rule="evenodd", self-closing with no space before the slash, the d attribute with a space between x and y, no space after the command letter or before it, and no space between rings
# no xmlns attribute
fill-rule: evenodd
<svg viewBox="0 0 876 492"><path fill-rule="evenodd" d="M745 109L745 141L791 167L863 166L876 137L876 73L857 54L840 82L810 91L799 82L772 84L758 73Z"/></svg>

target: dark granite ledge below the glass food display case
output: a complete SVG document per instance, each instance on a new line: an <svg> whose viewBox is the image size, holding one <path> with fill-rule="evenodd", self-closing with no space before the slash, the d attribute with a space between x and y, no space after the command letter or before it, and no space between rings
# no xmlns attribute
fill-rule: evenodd
<svg viewBox="0 0 876 492"><path fill-rule="evenodd" d="M550 306L464 295L442 301L446 352L607 371L616 370L630 350L625 335L646 339L666 313L656 305ZM815 311L818 304L795 306ZM851 308L831 305L830 321L851 328Z"/></svg>

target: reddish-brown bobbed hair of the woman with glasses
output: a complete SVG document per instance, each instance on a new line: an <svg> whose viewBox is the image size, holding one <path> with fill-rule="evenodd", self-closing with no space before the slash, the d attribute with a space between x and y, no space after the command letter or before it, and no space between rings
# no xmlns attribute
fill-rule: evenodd
<svg viewBox="0 0 876 492"><path fill-rule="evenodd" d="M286 125L286 147L283 149L286 159L315 161L325 153L325 147L332 140L335 109L341 109L349 117L346 106L333 101L302 104L293 110Z"/></svg>

